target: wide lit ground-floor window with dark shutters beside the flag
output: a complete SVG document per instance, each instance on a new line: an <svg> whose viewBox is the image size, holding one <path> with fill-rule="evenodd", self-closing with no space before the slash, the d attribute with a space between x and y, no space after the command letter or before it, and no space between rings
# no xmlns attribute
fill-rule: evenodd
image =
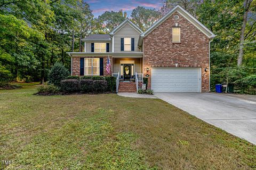
<svg viewBox="0 0 256 170"><path fill-rule="evenodd" d="M100 59L99 58L84 59L84 75L86 76L100 75Z"/></svg>

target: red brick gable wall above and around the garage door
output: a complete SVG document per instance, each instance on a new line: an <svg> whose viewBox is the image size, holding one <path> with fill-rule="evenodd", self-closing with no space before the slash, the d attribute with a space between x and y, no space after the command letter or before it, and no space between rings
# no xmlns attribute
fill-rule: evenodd
<svg viewBox="0 0 256 170"><path fill-rule="evenodd" d="M143 75L149 74L148 87L151 88L151 67L175 67L178 63L178 67L202 68L202 92L209 92L209 71L204 69L209 68L210 39L182 15L178 14L177 21L173 15L143 39ZM172 43L175 23L180 27L180 43Z"/></svg>

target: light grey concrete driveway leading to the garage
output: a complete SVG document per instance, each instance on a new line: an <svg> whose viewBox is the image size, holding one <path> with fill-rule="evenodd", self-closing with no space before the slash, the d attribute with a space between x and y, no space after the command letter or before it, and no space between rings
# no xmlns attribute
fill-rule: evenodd
<svg viewBox="0 0 256 170"><path fill-rule="evenodd" d="M256 96L155 92L189 114L256 144Z"/></svg>

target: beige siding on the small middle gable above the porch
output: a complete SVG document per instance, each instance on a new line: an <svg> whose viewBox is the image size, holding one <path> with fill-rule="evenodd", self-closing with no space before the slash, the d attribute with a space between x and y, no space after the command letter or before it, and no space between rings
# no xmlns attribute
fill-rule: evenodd
<svg viewBox="0 0 256 170"><path fill-rule="evenodd" d="M134 38L134 52L140 52L140 48L138 48L139 36L140 33L129 23L126 23L126 25L119 29L114 35L114 51L121 51L121 38Z"/></svg>

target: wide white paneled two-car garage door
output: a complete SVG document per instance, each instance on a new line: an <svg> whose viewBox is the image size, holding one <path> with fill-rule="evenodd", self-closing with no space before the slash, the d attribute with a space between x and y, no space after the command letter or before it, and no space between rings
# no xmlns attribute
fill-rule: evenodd
<svg viewBox="0 0 256 170"><path fill-rule="evenodd" d="M152 68L155 92L201 92L201 68Z"/></svg>

